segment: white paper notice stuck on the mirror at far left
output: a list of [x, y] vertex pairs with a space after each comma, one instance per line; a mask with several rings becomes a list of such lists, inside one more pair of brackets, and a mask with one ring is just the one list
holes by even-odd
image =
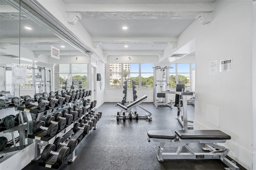
[[27, 83], [27, 66], [12, 64], [13, 83]]

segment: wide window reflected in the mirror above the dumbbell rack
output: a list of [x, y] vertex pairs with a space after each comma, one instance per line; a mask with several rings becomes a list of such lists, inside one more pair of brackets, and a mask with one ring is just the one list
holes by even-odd
[[[55, 66], [55, 89], [62, 89], [65, 87], [65, 83], [68, 85], [68, 77], [72, 75], [72, 81], [74, 82], [75, 89], [78, 89], [79, 85], [82, 85], [83, 89], [88, 88], [88, 64], [57, 64]], [[78, 84], [81, 81], [82, 84]]]

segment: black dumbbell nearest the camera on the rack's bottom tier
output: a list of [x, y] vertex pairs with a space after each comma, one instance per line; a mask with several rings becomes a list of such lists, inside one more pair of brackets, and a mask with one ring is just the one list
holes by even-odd
[[63, 146], [60, 149], [60, 152], [54, 152], [54, 150], [56, 150], [56, 146], [54, 144], [46, 145], [46, 147], [44, 148], [44, 150], [41, 154], [41, 159], [43, 161], [47, 161], [52, 155], [58, 155], [57, 163], [63, 164], [67, 160], [67, 158], [70, 154], [70, 148]]

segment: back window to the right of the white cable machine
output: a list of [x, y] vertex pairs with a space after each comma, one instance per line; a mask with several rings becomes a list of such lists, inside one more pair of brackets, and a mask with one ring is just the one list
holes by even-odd
[[[185, 84], [186, 88], [190, 87], [190, 77], [194, 63], [176, 63], [171, 64], [170, 72], [170, 88], [176, 88], [176, 84]], [[177, 82], [177, 83], [176, 83]]]

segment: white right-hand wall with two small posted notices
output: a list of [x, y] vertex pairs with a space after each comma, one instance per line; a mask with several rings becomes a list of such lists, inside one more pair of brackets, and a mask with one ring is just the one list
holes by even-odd
[[[196, 20], [179, 36], [178, 44], [193, 39], [194, 128], [220, 129], [229, 134], [231, 140], [225, 144], [230, 149], [228, 155], [252, 169], [252, 1], [216, 1], [212, 22], [206, 26]], [[166, 49], [165, 55], [168, 52]], [[219, 71], [222, 59], [232, 59], [231, 71]], [[218, 60], [218, 71], [209, 75], [209, 62], [213, 60]], [[215, 115], [210, 115], [211, 109]]]

